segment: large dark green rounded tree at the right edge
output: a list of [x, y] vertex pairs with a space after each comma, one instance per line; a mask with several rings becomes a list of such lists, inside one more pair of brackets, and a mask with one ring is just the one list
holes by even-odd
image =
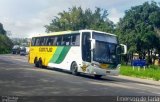
[[145, 58], [153, 50], [160, 51], [160, 7], [152, 1], [143, 5], [132, 7], [125, 12], [117, 25], [120, 42], [125, 43], [129, 53], [139, 53], [140, 58]]

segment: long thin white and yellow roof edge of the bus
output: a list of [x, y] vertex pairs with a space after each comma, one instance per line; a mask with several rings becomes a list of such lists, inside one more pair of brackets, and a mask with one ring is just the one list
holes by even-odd
[[102, 31], [96, 31], [96, 30], [77, 30], [77, 31], [60, 31], [60, 32], [45, 33], [45, 34], [36, 35], [36, 36], [33, 36], [33, 37], [43, 37], [43, 36], [53, 36], [53, 35], [67, 35], [67, 34], [79, 33], [79, 32], [97, 32], [97, 33], [104, 33], [104, 34], [111, 35], [111, 36], [116, 36], [115, 34], [106, 33], [106, 32], [102, 32]]

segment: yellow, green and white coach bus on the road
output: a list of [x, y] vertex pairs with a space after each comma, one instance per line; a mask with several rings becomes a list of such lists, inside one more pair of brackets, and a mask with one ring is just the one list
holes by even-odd
[[127, 47], [119, 44], [117, 36], [95, 30], [53, 32], [31, 39], [29, 63], [85, 73], [100, 78], [118, 75], [120, 56]]

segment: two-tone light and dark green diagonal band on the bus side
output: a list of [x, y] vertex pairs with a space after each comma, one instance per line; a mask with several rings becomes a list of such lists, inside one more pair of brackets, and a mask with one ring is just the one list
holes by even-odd
[[50, 62], [60, 64], [66, 57], [67, 53], [69, 52], [71, 46], [65, 47], [57, 47], [55, 54], [52, 56]]

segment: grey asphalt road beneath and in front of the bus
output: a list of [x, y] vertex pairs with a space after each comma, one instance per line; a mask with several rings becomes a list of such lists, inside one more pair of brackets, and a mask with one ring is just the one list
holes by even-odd
[[74, 76], [35, 68], [27, 57], [0, 55], [0, 96], [159, 96], [160, 83], [121, 76]]

